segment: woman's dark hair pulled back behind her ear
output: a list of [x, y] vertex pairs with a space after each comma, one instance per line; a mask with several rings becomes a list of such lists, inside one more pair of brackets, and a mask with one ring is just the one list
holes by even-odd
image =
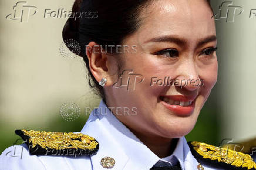
[[[90, 72], [85, 46], [92, 41], [102, 46], [122, 45], [123, 39], [139, 28], [142, 22], [140, 12], [151, 2], [153, 0], [76, 0], [73, 5], [72, 12], [74, 16], [79, 14], [80, 19], [68, 19], [63, 28], [63, 40], [65, 42], [73, 39], [79, 43], [81, 52], [76, 55], [83, 57], [85, 61], [89, 86], [103, 99], [103, 88]], [[210, 0], [207, 2], [210, 5]], [[70, 49], [70, 46], [68, 47]], [[121, 66], [122, 62], [119, 60], [118, 75]]]

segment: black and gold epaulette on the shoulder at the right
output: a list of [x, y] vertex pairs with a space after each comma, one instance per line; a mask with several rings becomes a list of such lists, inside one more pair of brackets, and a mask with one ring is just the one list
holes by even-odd
[[194, 151], [196, 151], [196, 154], [200, 155], [204, 159], [210, 159], [212, 161], [217, 161], [218, 163], [223, 162], [225, 164], [232, 165], [234, 169], [237, 169], [238, 167], [244, 169], [256, 169], [256, 163], [248, 154], [233, 151], [228, 148], [215, 147], [213, 145], [197, 141], [188, 142], [188, 145], [190, 145], [191, 152], [194, 156]]

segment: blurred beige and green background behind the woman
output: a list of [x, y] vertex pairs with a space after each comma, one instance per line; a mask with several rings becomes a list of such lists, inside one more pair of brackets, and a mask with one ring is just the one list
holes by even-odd
[[[0, 152], [19, 139], [15, 129], [80, 131], [88, 117], [85, 107], [97, 107], [100, 101], [87, 85], [82, 59], [60, 55], [66, 18], [43, 18], [45, 9], [70, 11], [73, 1], [27, 2], [38, 10], [29, 22], [6, 19], [16, 1], [0, 2]], [[212, 2], [215, 13], [222, 2]], [[224, 138], [256, 136], [256, 17], [250, 18], [256, 1], [233, 4], [244, 12], [235, 13], [233, 23], [225, 18], [216, 21], [218, 82], [188, 141], [219, 145]], [[59, 111], [69, 101], [81, 110], [80, 117], [71, 122], [63, 120]]]

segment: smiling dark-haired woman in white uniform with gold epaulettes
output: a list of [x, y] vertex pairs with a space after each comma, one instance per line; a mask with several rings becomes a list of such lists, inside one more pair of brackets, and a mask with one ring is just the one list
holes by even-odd
[[[79, 9], [80, 21], [70, 18], [63, 38], [79, 42], [89, 84], [103, 98], [81, 131], [96, 140], [78, 137], [95, 142], [92, 152], [29, 155], [21, 145], [22, 159], [14, 159], [5, 156], [10, 147], [1, 155], [4, 169], [256, 168], [250, 155], [230, 155], [184, 138], [217, 81], [217, 39], [208, 1], [85, 0], [75, 2], [73, 11]], [[16, 133], [29, 136], [29, 131]]]

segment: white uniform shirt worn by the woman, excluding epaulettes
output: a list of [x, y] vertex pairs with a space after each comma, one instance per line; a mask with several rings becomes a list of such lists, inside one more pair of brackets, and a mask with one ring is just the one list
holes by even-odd
[[[136, 116], [136, 115], [131, 115]], [[125, 125], [123, 125], [101, 101], [99, 109], [90, 114], [82, 131], [83, 134], [94, 137], [99, 142], [96, 155], [78, 157], [29, 155], [25, 144], [15, 145], [5, 149], [0, 156], [1, 170], [16, 169], [106, 169], [100, 165], [104, 157], [115, 160], [112, 170], [149, 170], [160, 160], [150, 151]], [[181, 137], [176, 149], [169, 157], [163, 158], [171, 164], [175, 157], [180, 162], [181, 169], [197, 170], [197, 159], [193, 157], [186, 138]], [[175, 160], [175, 159], [174, 159]], [[204, 165], [203, 165], [204, 166]], [[204, 169], [211, 169], [204, 166]]]

